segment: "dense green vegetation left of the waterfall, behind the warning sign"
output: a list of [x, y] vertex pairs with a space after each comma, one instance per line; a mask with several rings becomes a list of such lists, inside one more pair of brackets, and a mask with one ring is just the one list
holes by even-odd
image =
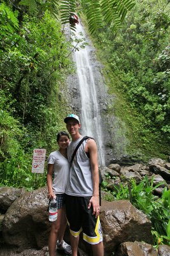
[[0, 186], [44, 186], [31, 173], [33, 148], [55, 149], [66, 129], [64, 80], [72, 70], [69, 46], [50, 12], [32, 17], [0, 5]]

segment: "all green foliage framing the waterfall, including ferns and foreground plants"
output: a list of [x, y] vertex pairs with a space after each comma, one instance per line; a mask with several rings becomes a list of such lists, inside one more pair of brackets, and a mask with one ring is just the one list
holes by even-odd
[[[65, 82], [73, 72], [69, 60], [73, 49], [54, 17], [65, 24], [77, 1], [69, 3], [1, 1], [0, 186], [36, 189], [46, 184], [46, 173], [31, 173], [32, 152], [46, 148], [48, 155], [57, 147], [57, 132], [65, 129]], [[108, 91], [117, 96], [107, 111], [124, 122], [130, 141], [127, 151], [141, 152], [145, 158], [166, 157], [170, 152], [169, 1], [138, 0], [132, 13], [131, 0], [81, 4], [78, 11], [83, 6], [95, 35]], [[129, 185], [131, 197], [129, 186], [120, 185], [106, 199], [131, 200], [152, 221], [155, 245], [170, 245], [169, 191], [165, 188], [161, 198], [155, 197], [153, 181], [147, 177]]]

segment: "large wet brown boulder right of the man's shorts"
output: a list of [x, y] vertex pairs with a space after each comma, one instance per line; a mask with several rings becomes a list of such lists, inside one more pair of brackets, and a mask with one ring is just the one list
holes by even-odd
[[152, 223], [147, 216], [127, 200], [106, 202], [101, 207], [104, 255], [111, 255], [118, 244], [126, 241], [153, 243]]

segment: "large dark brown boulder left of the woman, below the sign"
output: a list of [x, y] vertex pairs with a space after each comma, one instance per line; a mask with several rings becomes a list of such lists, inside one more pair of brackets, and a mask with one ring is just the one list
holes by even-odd
[[47, 244], [48, 221], [47, 188], [24, 193], [11, 204], [3, 219], [3, 239], [9, 246], [42, 248]]

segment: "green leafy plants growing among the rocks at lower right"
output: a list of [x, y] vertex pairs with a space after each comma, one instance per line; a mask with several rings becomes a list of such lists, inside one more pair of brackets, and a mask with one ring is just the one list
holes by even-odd
[[[106, 181], [105, 181], [106, 182]], [[162, 196], [153, 195], [154, 189], [162, 183], [153, 186], [153, 179], [149, 182], [146, 176], [139, 184], [131, 180], [129, 184], [114, 186], [114, 191], [109, 192], [105, 199], [130, 200], [131, 203], [143, 211], [152, 221], [152, 235], [155, 246], [167, 244], [170, 246], [170, 189], [164, 188]], [[103, 189], [106, 189], [107, 182], [103, 182]]]

